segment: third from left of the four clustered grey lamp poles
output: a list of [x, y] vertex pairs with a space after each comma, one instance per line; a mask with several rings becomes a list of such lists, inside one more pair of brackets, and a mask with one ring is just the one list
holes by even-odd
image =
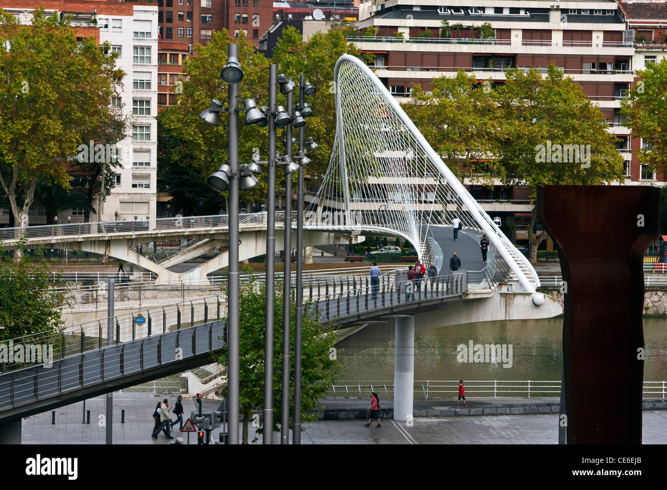
[[[293, 91], [287, 93], [287, 114], [292, 115]], [[285, 135], [287, 155], [291, 157], [291, 123]], [[291, 281], [291, 173], [285, 165], [285, 272], [283, 273], [283, 385], [281, 390], [280, 443], [289, 444], [289, 286]]]

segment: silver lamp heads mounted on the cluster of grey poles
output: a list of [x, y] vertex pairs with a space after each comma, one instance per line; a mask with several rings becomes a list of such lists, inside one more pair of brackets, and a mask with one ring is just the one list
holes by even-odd
[[[243, 79], [243, 70], [241, 69], [241, 65], [239, 65], [238, 59], [233, 56], [228, 57], [227, 64], [220, 72], [220, 77], [226, 83], [239, 83]], [[284, 73], [278, 75], [277, 81], [280, 85], [280, 93], [283, 95], [293, 91], [294, 87], [296, 86], [294, 81], [288, 79]], [[313, 87], [313, 85], [311, 85], [309, 82], [305, 83], [303, 87], [303, 92], [305, 95], [315, 95], [316, 91], [317, 89], [315, 89], [315, 87]], [[219, 100], [212, 99], [211, 105], [209, 105], [208, 109], [205, 109], [205, 111], [199, 113], [199, 118], [205, 123], [213, 126], [219, 126], [220, 113], [225, 110], [225, 107]], [[247, 99], [246, 101], [243, 101], [242, 110], [245, 110], [245, 118], [243, 119], [243, 123], [245, 125], [256, 124], [260, 127], [265, 127], [268, 125], [268, 118], [271, 117], [269, 108], [262, 106], [261, 109], [258, 109], [255, 99]], [[293, 116], [287, 114], [285, 106], [279, 105], [275, 111], [275, 125], [276, 127], [285, 127], [291, 123], [292, 127], [303, 127], [306, 124], [304, 118], [311, 115], [313, 115], [313, 110], [309, 107], [308, 103], [303, 103], [303, 107], [297, 103], [293, 112]], [[296, 142], [297, 139], [293, 137], [291, 141], [292, 145]], [[283, 144], [285, 147], [287, 147], [287, 139], [283, 139]], [[318, 146], [312, 138], [307, 138], [305, 140], [305, 144], [307, 151], [313, 151]], [[295, 157], [297, 159], [301, 159], [301, 161], [303, 161], [303, 165], [307, 165], [311, 161], [308, 157], [305, 156], [304, 151], [299, 151], [295, 154]], [[287, 174], [291, 174], [299, 169], [299, 164], [295, 163], [295, 161], [293, 161], [289, 155], [284, 155], [281, 157], [280, 154], [276, 152], [276, 159], [279, 165], [285, 165], [285, 173]], [[231, 173], [231, 168], [229, 165], [227, 165], [227, 163], [223, 163], [220, 165], [220, 168], [217, 170], [217, 172], [209, 175], [207, 179], [208, 185], [215, 191], [226, 191], [229, 187], [229, 173]], [[259, 155], [255, 154], [253, 155], [252, 161], [250, 163], [247, 165], [241, 165], [239, 167], [239, 189], [247, 190], [255, 187], [259, 181], [253, 174], [259, 173], [261, 173]]]

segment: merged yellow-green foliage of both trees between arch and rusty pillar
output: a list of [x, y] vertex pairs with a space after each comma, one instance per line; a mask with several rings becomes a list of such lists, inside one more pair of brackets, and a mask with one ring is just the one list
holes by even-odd
[[[506, 79], [497, 88], [490, 81], [476, 85], [462, 72], [453, 79], [434, 79], [432, 93], [414, 89], [408, 113], [450, 161], [486, 172], [486, 185], [497, 180], [527, 186], [533, 200], [538, 185], [623, 181], [616, 137], [606, 131], [604, 115], [578, 83], [553, 64], [544, 77], [536, 69], [509, 69]], [[566, 152], [564, 145], [576, 145], [576, 153], [574, 147]], [[532, 261], [545, 233], [528, 234]]]

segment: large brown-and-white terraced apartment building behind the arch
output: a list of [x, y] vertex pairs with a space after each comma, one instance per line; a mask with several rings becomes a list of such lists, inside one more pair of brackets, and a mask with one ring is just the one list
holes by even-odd
[[[500, 84], [510, 67], [546, 71], [554, 63], [582, 86], [600, 107], [608, 131], [618, 137], [625, 183], [667, 183], [666, 175], [640, 168], [633, 151], [641, 142], [632, 139], [620, 114], [621, 101], [635, 79], [633, 70], [644, 64], [636, 56], [634, 27], [628, 26], [615, 1], [367, 0], [359, 5], [359, 18], [359, 29], [374, 27], [376, 34], [350, 40], [362, 53], [374, 55], [376, 74], [399, 101], [409, 100], [414, 85], [428, 91], [434, 77], [454, 77], [459, 69], [479, 81], [491, 78]], [[450, 32], [441, 38], [444, 20]], [[492, 33], [480, 39], [484, 23], [491, 25]], [[507, 188], [500, 182], [487, 189], [471, 179], [464, 184], [492, 217], [500, 217], [502, 223], [506, 217], [514, 219], [517, 239], [527, 239], [532, 210], [528, 189]]]

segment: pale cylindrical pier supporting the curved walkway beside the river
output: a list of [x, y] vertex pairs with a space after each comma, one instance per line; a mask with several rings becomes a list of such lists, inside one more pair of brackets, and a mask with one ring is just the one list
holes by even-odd
[[412, 418], [415, 377], [415, 317], [394, 317], [394, 420]]

